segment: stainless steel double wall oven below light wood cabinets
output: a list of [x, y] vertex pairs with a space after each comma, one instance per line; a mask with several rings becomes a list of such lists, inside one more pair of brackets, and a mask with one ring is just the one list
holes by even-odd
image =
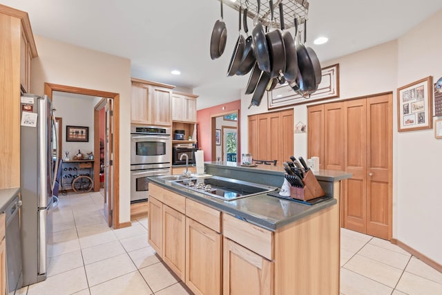
[[131, 202], [148, 196], [148, 177], [171, 174], [170, 127], [131, 126]]

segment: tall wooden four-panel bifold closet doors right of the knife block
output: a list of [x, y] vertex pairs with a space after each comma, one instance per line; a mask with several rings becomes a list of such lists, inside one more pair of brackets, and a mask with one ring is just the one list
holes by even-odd
[[[392, 237], [392, 94], [308, 108], [308, 158], [352, 173], [343, 182], [341, 225]], [[323, 158], [323, 159], [322, 159]]]

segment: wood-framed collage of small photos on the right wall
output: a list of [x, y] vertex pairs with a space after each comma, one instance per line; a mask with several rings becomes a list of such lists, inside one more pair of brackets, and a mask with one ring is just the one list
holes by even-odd
[[432, 129], [432, 77], [398, 88], [398, 132]]

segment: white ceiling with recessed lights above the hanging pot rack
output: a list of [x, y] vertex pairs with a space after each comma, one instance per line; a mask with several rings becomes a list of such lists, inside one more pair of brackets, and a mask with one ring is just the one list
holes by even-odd
[[[282, 3], [285, 1], [289, 0]], [[225, 5], [226, 50], [219, 59], [210, 58], [211, 31], [220, 18], [218, 0], [0, 0], [0, 3], [28, 12], [35, 35], [131, 59], [132, 77], [193, 88], [193, 93], [200, 95], [198, 109], [239, 99], [240, 89], [245, 88], [249, 79], [248, 75], [226, 77], [238, 38], [238, 12]], [[309, 0], [309, 3], [307, 43], [316, 50], [320, 61], [396, 39], [442, 9], [440, 0]], [[251, 27], [249, 19], [250, 30]], [[319, 35], [328, 37], [329, 42], [313, 45], [313, 39]], [[173, 69], [180, 70], [182, 75], [171, 75]]]

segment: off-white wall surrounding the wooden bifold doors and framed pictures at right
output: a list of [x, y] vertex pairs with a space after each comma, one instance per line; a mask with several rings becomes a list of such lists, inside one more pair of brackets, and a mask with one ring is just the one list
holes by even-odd
[[[339, 64], [339, 99], [393, 93], [393, 238], [439, 264], [442, 264], [442, 193], [436, 185], [440, 181], [442, 140], [434, 139], [433, 129], [397, 132], [396, 89], [430, 75], [434, 82], [442, 76], [442, 39], [437, 37], [441, 27], [442, 10], [397, 40], [321, 65]], [[259, 107], [247, 109], [250, 101], [251, 95], [241, 94], [242, 131], [247, 131], [248, 115], [273, 111], [267, 110], [266, 96]], [[307, 123], [308, 105], [292, 106], [294, 124]], [[244, 153], [248, 149], [247, 132], [241, 134]], [[294, 154], [307, 156], [306, 133], [294, 135]]]

